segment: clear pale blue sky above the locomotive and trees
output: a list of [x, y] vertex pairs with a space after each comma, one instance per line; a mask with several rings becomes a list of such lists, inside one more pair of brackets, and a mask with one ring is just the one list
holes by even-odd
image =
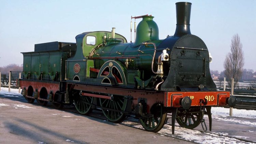
[[[211, 70], [223, 71], [232, 35], [243, 44], [245, 69], [256, 71], [256, 1], [191, 1], [191, 33], [200, 37], [213, 56]], [[22, 64], [20, 52], [32, 52], [34, 44], [75, 42], [86, 31], [111, 31], [130, 41], [130, 17], [152, 14], [159, 38], [173, 35], [176, 0], [85, 1], [85, 0], [0, 0], [0, 67]], [[140, 19], [137, 19], [137, 24]]]

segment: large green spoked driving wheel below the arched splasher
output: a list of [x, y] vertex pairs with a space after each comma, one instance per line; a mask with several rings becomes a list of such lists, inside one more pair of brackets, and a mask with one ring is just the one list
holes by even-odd
[[111, 97], [111, 100], [100, 98], [102, 112], [109, 121], [120, 123], [125, 119], [125, 114], [118, 111], [124, 111], [126, 109], [127, 99], [123, 96]]

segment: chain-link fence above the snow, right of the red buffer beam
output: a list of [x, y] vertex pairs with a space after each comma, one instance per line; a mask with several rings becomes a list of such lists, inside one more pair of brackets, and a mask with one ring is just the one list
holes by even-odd
[[[218, 90], [231, 91], [231, 79], [214, 79]], [[256, 118], [256, 80], [234, 80], [233, 95], [237, 104], [230, 112], [229, 107], [213, 107], [212, 114]]]

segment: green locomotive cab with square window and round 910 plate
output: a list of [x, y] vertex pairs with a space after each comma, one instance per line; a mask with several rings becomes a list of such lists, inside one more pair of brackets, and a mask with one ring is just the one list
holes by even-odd
[[95, 50], [98, 49], [103, 53], [104, 46], [127, 43], [125, 37], [120, 34], [115, 33], [115, 38], [112, 38], [113, 33], [94, 31], [77, 35], [75, 37], [77, 50], [75, 56], [66, 61], [65, 79], [67, 81], [84, 82], [86, 78], [96, 78], [98, 71], [90, 71], [90, 69], [97, 67], [95, 66], [95, 60], [91, 59], [93, 55], [94, 57], [99, 56]]

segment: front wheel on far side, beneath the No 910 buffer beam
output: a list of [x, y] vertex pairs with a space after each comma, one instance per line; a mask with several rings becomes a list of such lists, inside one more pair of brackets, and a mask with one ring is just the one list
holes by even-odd
[[181, 127], [194, 129], [201, 123], [201, 117], [203, 116], [200, 114], [199, 110], [198, 112], [187, 112], [184, 110], [181, 113], [177, 113], [176, 120]]

